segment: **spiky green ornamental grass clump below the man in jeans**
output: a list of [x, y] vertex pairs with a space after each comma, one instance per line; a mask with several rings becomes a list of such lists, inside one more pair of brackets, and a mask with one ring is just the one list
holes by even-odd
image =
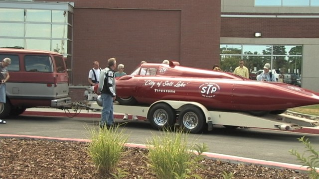
[[124, 129], [119, 130], [119, 126], [90, 130], [92, 141], [87, 153], [100, 175], [105, 176], [115, 172], [125, 150], [124, 144], [128, 140], [128, 135], [124, 132]]

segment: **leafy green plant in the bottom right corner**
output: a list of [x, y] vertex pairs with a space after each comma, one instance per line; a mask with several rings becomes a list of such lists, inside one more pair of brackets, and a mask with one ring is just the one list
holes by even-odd
[[302, 155], [296, 150], [289, 150], [289, 152], [296, 156], [303, 166], [307, 167], [311, 179], [319, 179], [316, 169], [319, 167], [319, 152], [314, 149], [308, 139], [305, 139], [305, 136], [298, 138], [298, 140], [305, 145], [307, 150]]

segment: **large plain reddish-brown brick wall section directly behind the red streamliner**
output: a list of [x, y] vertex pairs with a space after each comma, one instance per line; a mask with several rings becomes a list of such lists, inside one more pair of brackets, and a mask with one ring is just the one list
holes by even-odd
[[142, 60], [209, 69], [219, 62], [220, 0], [73, 2], [73, 85], [87, 85], [92, 62], [105, 68], [111, 57], [127, 73]]

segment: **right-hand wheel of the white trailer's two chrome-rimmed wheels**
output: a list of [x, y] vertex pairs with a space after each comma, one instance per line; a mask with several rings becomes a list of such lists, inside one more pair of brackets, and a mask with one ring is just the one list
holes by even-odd
[[199, 133], [204, 129], [206, 121], [203, 112], [199, 108], [189, 106], [179, 113], [178, 123], [190, 133]]

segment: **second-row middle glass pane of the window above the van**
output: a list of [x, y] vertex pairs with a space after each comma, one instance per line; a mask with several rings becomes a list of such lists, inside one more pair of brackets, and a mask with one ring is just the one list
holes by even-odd
[[26, 24], [25, 37], [51, 37], [50, 24]]

